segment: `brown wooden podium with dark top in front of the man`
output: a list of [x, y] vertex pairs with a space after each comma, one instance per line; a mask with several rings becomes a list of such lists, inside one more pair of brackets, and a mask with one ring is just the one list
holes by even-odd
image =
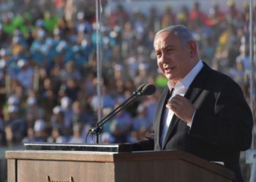
[[184, 151], [129, 150], [118, 144], [28, 145], [22, 151], [6, 151], [8, 182], [226, 182], [235, 178], [225, 167]]

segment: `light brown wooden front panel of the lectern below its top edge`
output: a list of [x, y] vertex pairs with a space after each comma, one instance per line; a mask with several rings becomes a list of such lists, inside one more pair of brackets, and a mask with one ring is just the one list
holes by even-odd
[[17, 178], [25, 181], [114, 181], [113, 163], [18, 160]]

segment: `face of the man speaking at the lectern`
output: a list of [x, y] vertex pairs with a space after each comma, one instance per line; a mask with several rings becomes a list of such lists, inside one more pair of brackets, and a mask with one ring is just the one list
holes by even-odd
[[189, 43], [182, 44], [173, 33], [163, 32], [155, 36], [154, 50], [157, 65], [168, 80], [178, 82], [191, 70], [193, 49]]

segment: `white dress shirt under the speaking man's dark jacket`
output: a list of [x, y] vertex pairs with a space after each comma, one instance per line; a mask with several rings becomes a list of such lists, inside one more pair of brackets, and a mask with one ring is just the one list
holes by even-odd
[[[195, 76], [197, 76], [197, 74], [202, 68], [203, 68], [203, 62], [199, 60], [198, 63], [194, 66], [194, 68], [192, 68], [192, 70], [189, 71], [189, 74], [187, 74], [183, 79], [181, 79], [181, 81], [177, 82], [176, 84], [174, 82], [169, 81], [167, 83], [167, 86], [169, 87], [170, 91], [173, 89], [173, 94], [170, 96], [169, 100], [173, 98], [175, 95], [184, 96], [190, 84], [195, 79]], [[194, 118], [194, 115], [192, 116], [192, 118]], [[168, 108], [165, 108], [164, 116], [162, 117], [162, 122], [164, 122], [164, 125], [162, 127], [162, 135], [160, 138], [161, 145], [165, 140], [165, 135], [167, 133], [168, 127], [170, 126], [170, 122], [172, 119], [173, 119], [173, 111], [171, 111]], [[191, 127], [192, 122], [187, 125]]]

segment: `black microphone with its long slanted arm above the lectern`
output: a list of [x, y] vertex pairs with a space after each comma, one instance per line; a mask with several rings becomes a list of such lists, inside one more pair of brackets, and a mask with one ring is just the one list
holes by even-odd
[[102, 132], [102, 125], [105, 124], [105, 122], [108, 122], [113, 116], [116, 116], [119, 111], [124, 109], [126, 106], [128, 106], [130, 103], [132, 103], [133, 100], [136, 98], [143, 96], [143, 95], [153, 95], [156, 91], [156, 87], [153, 84], [141, 84], [138, 89], [135, 92], [132, 92], [132, 96], [129, 97], [127, 100], [124, 101], [124, 103], [121, 103], [120, 106], [115, 108], [113, 111], [110, 112], [107, 116], [105, 116], [103, 119], [101, 119], [94, 128], [91, 128], [89, 132], [91, 134], [96, 133], [97, 135], [97, 143], [99, 141], [99, 134]]

